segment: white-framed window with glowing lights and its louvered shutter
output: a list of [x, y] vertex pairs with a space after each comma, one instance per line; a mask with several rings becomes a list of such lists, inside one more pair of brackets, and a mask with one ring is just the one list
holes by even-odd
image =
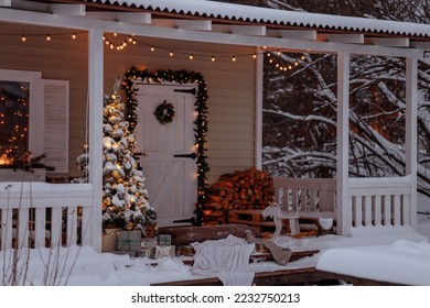
[[45, 154], [54, 173], [68, 173], [68, 80], [0, 69], [0, 167]]

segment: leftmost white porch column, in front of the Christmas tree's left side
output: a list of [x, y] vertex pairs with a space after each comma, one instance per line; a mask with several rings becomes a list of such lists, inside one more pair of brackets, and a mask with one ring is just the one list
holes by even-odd
[[88, 32], [88, 98], [89, 98], [89, 183], [93, 184], [92, 245], [101, 251], [103, 190], [103, 31]]

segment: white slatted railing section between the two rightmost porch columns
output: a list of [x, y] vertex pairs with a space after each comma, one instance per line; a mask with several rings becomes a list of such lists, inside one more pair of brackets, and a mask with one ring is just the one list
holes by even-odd
[[350, 178], [351, 227], [410, 224], [409, 177]]

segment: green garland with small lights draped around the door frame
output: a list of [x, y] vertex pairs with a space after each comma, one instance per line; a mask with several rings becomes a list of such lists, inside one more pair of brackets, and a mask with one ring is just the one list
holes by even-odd
[[139, 70], [132, 67], [125, 74], [125, 81], [122, 82], [122, 89], [127, 97], [127, 121], [129, 122], [129, 131], [133, 133], [137, 124], [137, 108], [138, 100], [136, 92], [138, 89], [135, 87], [136, 81], [148, 82], [178, 82], [178, 84], [194, 84], [197, 82], [198, 88], [195, 95], [196, 101], [194, 103], [197, 117], [194, 121], [194, 136], [195, 144], [197, 145], [196, 164], [197, 164], [197, 202], [196, 202], [196, 224], [202, 224], [203, 205], [206, 201], [206, 194], [208, 189], [207, 173], [209, 166], [206, 162], [205, 155], [206, 148], [206, 133], [207, 133], [207, 88], [206, 81], [200, 73], [187, 70], [154, 70], [148, 69]]

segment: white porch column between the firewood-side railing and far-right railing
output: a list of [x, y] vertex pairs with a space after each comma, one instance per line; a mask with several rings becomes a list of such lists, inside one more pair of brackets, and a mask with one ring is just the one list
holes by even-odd
[[336, 223], [337, 234], [347, 235], [352, 221], [348, 205], [348, 139], [350, 139], [350, 53], [337, 54], [337, 161]]

